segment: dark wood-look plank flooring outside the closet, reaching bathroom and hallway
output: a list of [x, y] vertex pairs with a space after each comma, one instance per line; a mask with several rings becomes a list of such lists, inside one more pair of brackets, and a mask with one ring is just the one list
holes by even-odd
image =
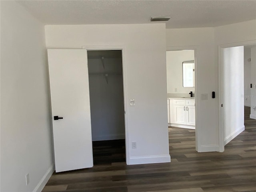
[[194, 130], [169, 127], [171, 163], [126, 165], [108, 158], [93, 168], [54, 173], [43, 192], [256, 192], [256, 120], [249, 110], [245, 131], [223, 153], [198, 153]]

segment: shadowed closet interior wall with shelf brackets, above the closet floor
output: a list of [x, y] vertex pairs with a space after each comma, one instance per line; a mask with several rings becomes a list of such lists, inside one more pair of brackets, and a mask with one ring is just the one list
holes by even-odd
[[[101, 59], [104, 53], [98, 53], [98, 58], [91, 58], [88, 52], [93, 141], [125, 138], [122, 52], [116, 52], [119, 55], [104, 57], [105, 67]], [[107, 81], [101, 74], [108, 74]]]

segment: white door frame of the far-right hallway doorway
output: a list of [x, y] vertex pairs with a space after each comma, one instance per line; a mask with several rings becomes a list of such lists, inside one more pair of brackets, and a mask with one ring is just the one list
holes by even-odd
[[237, 46], [247, 46], [256, 44], [256, 40], [234, 42], [227, 44], [218, 45], [218, 124], [219, 124], [219, 152], [224, 152], [224, 127], [223, 127], [223, 112], [222, 112], [222, 101], [223, 101], [223, 50], [224, 48], [237, 47]]

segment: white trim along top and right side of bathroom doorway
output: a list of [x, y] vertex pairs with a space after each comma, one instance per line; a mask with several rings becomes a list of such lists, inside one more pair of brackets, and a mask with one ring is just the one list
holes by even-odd
[[195, 139], [196, 139], [196, 151], [198, 151], [198, 149], [200, 148], [201, 146], [201, 135], [200, 135], [200, 126], [197, 126], [198, 125], [198, 120], [197, 120], [197, 117], [198, 117], [198, 111], [197, 109], [199, 108], [199, 100], [198, 100], [198, 94], [197, 94], [197, 91], [196, 91], [196, 87], [197, 87], [197, 80], [196, 80], [196, 68], [197, 68], [197, 62], [196, 62], [196, 55], [197, 55], [197, 52], [198, 52], [198, 48], [199, 46], [168, 46], [166, 47], [166, 51], [182, 51], [182, 50], [194, 50], [194, 60], [195, 60]]

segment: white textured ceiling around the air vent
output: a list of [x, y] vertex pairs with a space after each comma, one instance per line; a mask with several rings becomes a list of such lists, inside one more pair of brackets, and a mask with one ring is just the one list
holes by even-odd
[[166, 28], [215, 27], [256, 19], [256, 0], [18, 0], [44, 24], [142, 24], [172, 16]]

